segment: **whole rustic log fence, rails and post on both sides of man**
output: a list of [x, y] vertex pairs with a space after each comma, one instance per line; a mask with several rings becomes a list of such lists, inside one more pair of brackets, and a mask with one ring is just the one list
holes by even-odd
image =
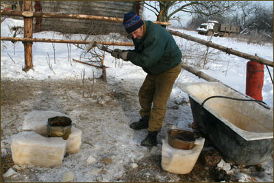
[[[92, 15], [85, 15], [85, 14], [55, 14], [55, 13], [44, 13], [44, 12], [33, 12], [32, 10], [32, 1], [24, 1], [24, 12], [19, 11], [9, 11], [9, 10], [1, 10], [1, 16], [7, 15], [7, 16], [23, 16], [24, 18], [24, 38], [8, 38], [8, 37], [1, 37], [1, 40], [4, 41], [22, 41], [24, 43], [25, 47], [25, 68], [23, 70], [27, 72], [29, 69], [33, 67], [32, 64], [32, 44], [33, 42], [55, 42], [55, 43], [66, 43], [66, 44], [89, 44], [88, 41], [79, 41], [79, 40], [54, 40], [54, 39], [38, 39], [38, 38], [32, 38], [32, 25], [33, 25], [33, 17], [47, 17], [47, 18], [75, 18], [75, 19], [87, 19], [87, 20], [101, 20], [101, 21], [109, 21], [109, 22], [116, 22], [116, 23], [123, 23], [123, 18], [114, 18], [114, 17], [107, 17], [107, 16], [92, 16]], [[165, 23], [165, 22], [153, 22], [157, 23], [159, 25], [171, 25], [171, 23]], [[191, 40], [193, 42], [198, 42], [199, 44], [203, 44], [212, 48], [219, 49], [220, 51], [224, 51], [225, 53], [236, 55], [238, 57], [242, 57], [245, 59], [249, 59], [252, 61], [257, 61], [260, 64], [265, 64], [266, 66], [273, 67], [273, 61], [269, 61], [266, 59], [262, 59], [261, 57], [249, 55], [247, 53], [242, 53], [240, 51], [235, 51], [232, 48], [227, 48], [225, 46], [221, 46], [218, 44], [214, 44], [212, 42], [208, 42], [205, 40], [201, 40], [199, 38], [194, 38], [192, 36], [188, 36], [184, 33], [179, 33], [177, 31], [168, 30], [169, 33], [171, 33], [174, 36], [179, 36], [181, 38], [184, 38], [186, 40]], [[129, 42], [98, 42], [100, 44], [104, 45], [119, 45], [119, 46], [134, 46], [133, 43]], [[102, 67], [103, 66], [102, 63]], [[195, 74], [202, 79], [205, 79], [206, 81], [218, 81], [211, 76], [208, 76], [207, 74], [204, 74], [203, 72], [200, 72], [199, 70], [196, 70], [195, 68], [192, 68], [190, 66], [183, 65], [182, 68], [188, 70], [188, 72], [192, 72], [192, 74]], [[103, 69], [104, 72], [104, 69]], [[105, 76], [105, 73], [103, 73], [103, 76]], [[104, 81], [106, 81], [106, 78], [104, 78]]]

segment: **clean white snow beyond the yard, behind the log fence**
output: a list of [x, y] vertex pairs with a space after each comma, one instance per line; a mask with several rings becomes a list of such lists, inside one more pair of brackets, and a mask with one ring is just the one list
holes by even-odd
[[[23, 27], [22, 20], [14, 20], [7, 18], [3, 23], [1, 23], [1, 36], [2, 37], [11, 37], [14, 35], [14, 31], [11, 31], [11, 27]], [[175, 31], [182, 31], [190, 36], [195, 36], [200, 39], [209, 40], [208, 36], [202, 36], [197, 34], [196, 31], [186, 31], [175, 29]], [[46, 31], [42, 33], [34, 33], [33, 38], [54, 38], [54, 39], [66, 39], [67, 35], [60, 33], [55, 33], [52, 31]], [[85, 36], [75, 34], [69, 35], [71, 40], [82, 40]], [[104, 36], [104, 40], [111, 40], [113, 35]], [[16, 38], [23, 38], [23, 34], [18, 34]], [[90, 38], [91, 39], [91, 38]], [[188, 40], [175, 37], [177, 44], [182, 48], [183, 55], [188, 54], [189, 50], [184, 50], [188, 47], [192, 47], [190, 51], [199, 51], [199, 53], [204, 53], [206, 46], [195, 44]], [[222, 46], [227, 46], [228, 48], [233, 48], [236, 51], [242, 51], [243, 53], [248, 53], [251, 55], [258, 55], [264, 59], [273, 61], [273, 44], [247, 44], [247, 42], [238, 42], [236, 38], [215, 38], [213, 37], [212, 42], [220, 44]], [[109, 48], [114, 48], [110, 46]], [[115, 46], [115, 48], [127, 49], [125, 46]], [[128, 47], [131, 48], [131, 47]], [[227, 55], [221, 53], [221, 51], [216, 51], [213, 48], [210, 48], [209, 53], [212, 52], [211, 60], [206, 65], [206, 70], [201, 70], [206, 74], [219, 79], [223, 83], [231, 86], [232, 88], [245, 94], [245, 76], [246, 76], [246, 59], [242, 59], [235, 55]], [[79, 59], [82, 51], [77, 49], [76, 46], [71, 46], [71, 58]], [[215, 53], [215, 54], [213, 54]], [[195, 54], [195, 53], [192, 53]], [[9, 56], [10, 55], [10, 56]], [[24, 67], [24, 49], [21, 42], [16, 42], [12, 44], [11, 42], [1, 42], [1, 78], [9, 79], [81, 79], [81, 73], [83, 69], [87, 73], [92, 73], [92, 70], [95, 70], [95, 74], [101, 74], [101, 70], [95, 69], [92, 67], [87, 67], [82, 64], [77, 64], [73, 61], [69, 61], [68, 48], [66, 44], [55, 44], [55, 55], [56, 63], [53, 59], [53, 46], [51, 43], [40, 43], [36, 42], [33, 44], [33, 63], [34, 69], [29, 70], [29, 72], [22, 72]], [[184, 55], [187, 56], [187, 55]], [[183, 56], [183, 57], [184, 57]], [[52, 65], [53, 71], [49, 70], [48, 57], [50, 58], [50, 64]], [[15, 62], [12, 61], [12, 59]], [[82, 58], [82, 60], [84, 60]], [[73, 62], [71, 64], [71, 62]], [[114, 58], [110, 54], [105, 55], [105, 66], [108, 66], [108, 76], [114, 77], [117, 80], [125, 78], [143, 78], [145, 73], [142, 72], [142, 69], [133, 66], [129, 62], [119, 62], [114, 64]], [[193, 61], [187, 59], [187, 63], [192, 65]], [[120, 67], [119, 67], [120, 64]], [[123, 67], [122, 67], [123, 65]], [[272, 77], [273, 77], [273, 68], [269, 67]], [[119, 72], [116, 72], [119, 70]], [[129, 74], [131, 73], [131, 74]], [[134, 73], [134, 74], [132, 74]], [[95, 76], [96, 76], [95, 75]], [[199, 80], [197, 76], [193, 74], [186, 73], [184, 71], [180, 76], [180, 81], [203, 81]], [[271, 78], [269, 76], [268, 70], [264, 67], [264, 87], [262, 91], [263, 101], [273, 107], [273, 85], [271, 83]]]

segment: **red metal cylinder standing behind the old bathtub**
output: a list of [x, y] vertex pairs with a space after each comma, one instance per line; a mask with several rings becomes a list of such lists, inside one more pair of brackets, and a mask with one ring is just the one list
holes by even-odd
[[264, 65], [256, 61], [247, 62], [247, 81], [245, 94], [256, 100], [262, 100], [264, 85]]

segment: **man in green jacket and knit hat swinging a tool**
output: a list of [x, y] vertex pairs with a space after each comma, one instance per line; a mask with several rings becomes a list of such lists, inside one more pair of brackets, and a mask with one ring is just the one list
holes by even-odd
[[157, 144], [157, 134], [162, 128], [166, 102], [175, 79], [181, 72], [182, 53], [166, 29], [151, 21], [143, 21], [135, 12], [125, 14], [123, 25], [127, 33], [132, 35], [135, 49], [115, 49], [112, 56], [131, 61], [147, 72], [138, 94], [142, 118], [139, 122], [130, 124], [130, 128], [147, 128], [148, 135], [141, 145], [153, 146]]

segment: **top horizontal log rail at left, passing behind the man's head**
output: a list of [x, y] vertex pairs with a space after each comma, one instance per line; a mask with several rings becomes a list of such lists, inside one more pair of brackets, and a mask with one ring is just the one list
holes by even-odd
[[[1, 16], [24, 16], [27, 12], [1, 10]], [[31, 12], [29, 16], [42, 17], [42, 18], [71, 18], [71, 19], [84, 19], [84, 20], [101, 20], [114, 23], [123, 23], [123, 18], [108, 17], [108, 16], [94, 16], [88, 14], [64, 14], [64, 13], [44, 13], [44, 12]], [[171, 23], [153, 21], [158, 25], [171, 25]]]

